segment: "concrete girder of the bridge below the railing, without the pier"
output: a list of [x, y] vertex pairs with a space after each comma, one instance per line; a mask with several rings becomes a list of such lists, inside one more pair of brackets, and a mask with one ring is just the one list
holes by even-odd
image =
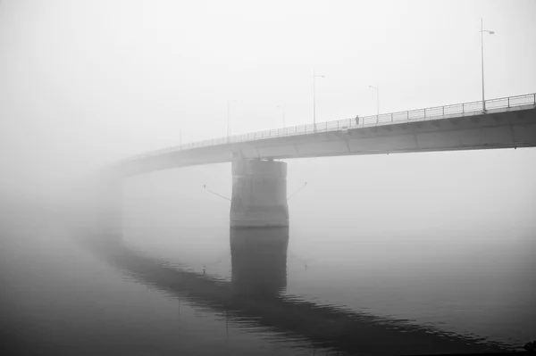
[[536, 146], [536, 106], [440, 120], [383, 123], [306, 135], [172, 151], [125, 161], [122, 177], [241, 159], [292, 159]]

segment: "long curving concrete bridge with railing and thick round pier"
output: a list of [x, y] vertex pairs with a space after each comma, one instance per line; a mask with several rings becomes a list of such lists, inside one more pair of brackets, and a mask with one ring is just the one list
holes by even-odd
[[[528, 94], [486, 100], [485, 106], [482, 101], [457, 103], [222, 137], [131, 157], [108, 172], [117, 181], [155, 170], [232, 162], [230, 227], [285, 227], [287, 164], [274, 160], [534, 146], [536, 94]], [[115, 216], [121, 201], [117, 186], [108, 185], [102, 193]]]

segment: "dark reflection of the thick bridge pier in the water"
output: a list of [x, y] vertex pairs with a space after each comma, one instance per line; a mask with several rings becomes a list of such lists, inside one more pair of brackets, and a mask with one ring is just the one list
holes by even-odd
[[287, 286], [289, 228], [231, 228], [232, 286], [236, 294], [278, 294]]

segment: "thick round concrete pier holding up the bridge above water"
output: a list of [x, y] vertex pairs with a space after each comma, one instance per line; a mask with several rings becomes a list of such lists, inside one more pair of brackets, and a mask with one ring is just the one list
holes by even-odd
[[287, 163], [233, 161], [230, 228], [288, 226]]

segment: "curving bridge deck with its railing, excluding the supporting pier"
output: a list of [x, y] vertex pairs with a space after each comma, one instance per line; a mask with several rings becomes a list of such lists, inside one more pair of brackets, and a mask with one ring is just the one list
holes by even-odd
[[536, 146], [536, 94], [280, 128], [182, 145], [117, 162], [121, 177], [241, 159], [291, 159]]

